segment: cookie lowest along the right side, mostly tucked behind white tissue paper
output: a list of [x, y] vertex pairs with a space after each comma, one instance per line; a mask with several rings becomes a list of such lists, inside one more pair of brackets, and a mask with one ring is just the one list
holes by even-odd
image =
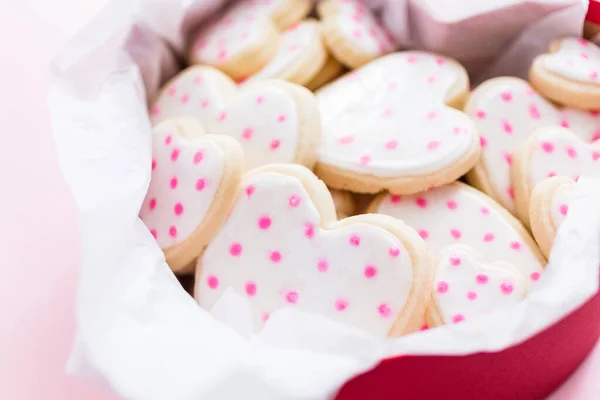
[[558, 228], [569, 212], [575, 184], [570, 178], [555, 176], [536, 185], [531, 193], [531, 232], [546, 257], [550, 254]]

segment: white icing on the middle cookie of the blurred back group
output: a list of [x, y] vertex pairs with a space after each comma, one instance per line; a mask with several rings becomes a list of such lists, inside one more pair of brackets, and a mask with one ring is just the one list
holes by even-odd
[[246, 79], [244, 83], [277, 78], [282, 72], [296, 66], [299, 60], [306, 58], [307, 52], [320, 40], [321, 34], [317, 22], [300, 22], [289, 27], [281, 34], [281, 44], [275, 57], [263, 69]]

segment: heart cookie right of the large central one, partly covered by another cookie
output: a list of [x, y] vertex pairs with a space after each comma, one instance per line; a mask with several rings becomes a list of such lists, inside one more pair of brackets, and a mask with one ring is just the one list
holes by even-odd
[[494, 78], [478, 86], [465, 106], [481, 136], [481, 159], [467, 174], [468, 182], [515, 213], [510, 180], [513, 152], [537, 129], [570, 127], [586, 142], [600, 138], [600, 114], [556, 108], [527, 82]]

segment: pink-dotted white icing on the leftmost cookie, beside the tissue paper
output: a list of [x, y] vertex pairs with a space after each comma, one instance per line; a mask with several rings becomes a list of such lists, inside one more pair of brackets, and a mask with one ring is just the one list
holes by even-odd
[[152, 133], [152, 178], [140, 218], [158, 245], [185, 240], [202, 221], [223, 177], [225, 157], [214, 142], [183, 138], [165, 122]]

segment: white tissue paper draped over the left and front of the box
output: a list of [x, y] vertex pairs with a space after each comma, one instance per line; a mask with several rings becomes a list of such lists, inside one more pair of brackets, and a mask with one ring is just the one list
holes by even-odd
[[183, 49], [192, 20], [221, 3], [113, 1], [55, 60], [52, 129], [81, 233], [71, 372], [128, 399], [326, 399], [383, 357], [522, 342], [596, 293], [600, 181], [582, 177], [543, 279], [514, 308], [394, 340], [296, 309], [253, 335], [246, 300], [231, 292], [201, 309], [138, 211], [150, 180], [146, 96], [175, 65], [162, 40]]

